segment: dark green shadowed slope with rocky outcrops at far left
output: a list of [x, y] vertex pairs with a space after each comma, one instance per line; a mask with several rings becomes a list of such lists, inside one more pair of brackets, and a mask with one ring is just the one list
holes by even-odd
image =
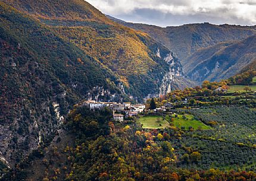
[[121, 91], [111, 72], [49, 28], [2, 2], [0, 11], [0, 157], [12, 165], [88, 93], [118, 100]]

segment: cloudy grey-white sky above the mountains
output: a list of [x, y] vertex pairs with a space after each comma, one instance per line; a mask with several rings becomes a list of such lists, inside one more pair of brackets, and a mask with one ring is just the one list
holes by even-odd
[[105, 14], [161, 27], [189, 23], [256, 24], [256, 0], [86, 0]]

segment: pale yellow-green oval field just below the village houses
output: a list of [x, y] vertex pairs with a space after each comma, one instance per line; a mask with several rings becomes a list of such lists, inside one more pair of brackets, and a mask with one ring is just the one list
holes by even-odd
[[[158, 122], [157, 120], [160, 120]], [[157, 128], [170, 128], [170, 124], [167, 120], [163, 120], [162, 116], [143, 116], [138, 120], [143, 126], [143, 128], [157, 129]], [[161, 124], [161, 126], [160, 126]]]

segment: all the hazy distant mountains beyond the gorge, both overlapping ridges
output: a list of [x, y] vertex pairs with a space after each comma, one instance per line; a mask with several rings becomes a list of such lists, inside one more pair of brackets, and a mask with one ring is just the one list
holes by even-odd
[[238, 74], [255, 58], [256, 26], [204, 23], [162, 28], [110, 18], [148, 33], [163, 43], [180, 59], [185, 74], [198, 84], [204, 80], [218, 81]]

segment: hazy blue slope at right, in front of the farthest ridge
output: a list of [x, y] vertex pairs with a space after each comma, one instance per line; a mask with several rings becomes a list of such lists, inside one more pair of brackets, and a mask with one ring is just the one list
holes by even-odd
[[[204, 56], [202, 61], [201, 56]], [[193, 81], [220, 81], [241, 72], [256, 59], [256, 35], [244, 40], [220, 43], [191, 55], [188, 76]]]

